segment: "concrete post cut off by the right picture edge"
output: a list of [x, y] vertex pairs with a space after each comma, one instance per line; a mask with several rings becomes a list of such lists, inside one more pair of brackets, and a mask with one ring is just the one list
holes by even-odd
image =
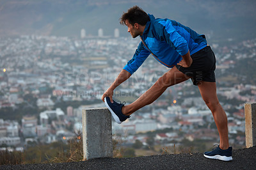
[[246, 148], [256, 146], [256, 103], [244, 104]]

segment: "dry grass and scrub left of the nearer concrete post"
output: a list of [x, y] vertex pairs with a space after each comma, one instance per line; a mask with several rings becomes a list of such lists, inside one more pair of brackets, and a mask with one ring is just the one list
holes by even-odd
[[[65, 145], [65, 148], [63, 146]], [[49, 148], [49, 146], [55, 146]], [[3, 164], [39, 164], [39, 163], [59, 163], [78, 162], [83, 160], [83, 140], [81, 133], [68, 141], [68, 144], [38, 145], [24, 151], [0, 151], [0, 165]], [[67, 147], [68, 146], [68, 147]], [[58, 149], [59, 148], [59, 149]], [[68, 148], [68, 149], [67, 149]]]

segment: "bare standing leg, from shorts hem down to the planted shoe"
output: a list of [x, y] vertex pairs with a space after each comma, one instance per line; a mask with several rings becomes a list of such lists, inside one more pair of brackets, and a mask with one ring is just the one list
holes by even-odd
[[205, 104], [212, 112], [212, 116], [218, 128], [220, 135], [220, 148], [226, 150], [229, 147], [228, 144], [228, 121], [227, 115], [220, 105], [216, 94], [216, 82], [200, 82], [198, 85], [202, 98]]

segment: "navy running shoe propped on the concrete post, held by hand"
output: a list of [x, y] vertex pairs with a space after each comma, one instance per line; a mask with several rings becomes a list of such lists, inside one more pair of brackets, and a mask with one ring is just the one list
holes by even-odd
[[106, 106], [111, 112], [116, 123], [121, 124], [123, 121], [127, 120], [127, 118], [131, 117], [131, 116], [126, 116], [122, 113], [122, 107], [124, 107], [124, 104], [118, 104], [114, 100], [113, 100], [113, 103], [111, 103], [109, 97], [105, 97], [104, 100], [105, 100]]

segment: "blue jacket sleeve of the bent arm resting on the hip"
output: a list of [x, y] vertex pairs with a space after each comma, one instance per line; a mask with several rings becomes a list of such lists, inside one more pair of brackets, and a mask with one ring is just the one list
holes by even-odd
[[187, 54], [189, 50], [188, 42], [182, 35], [180, 35], [179, 31], [173, 27], [172, 22], [167, 20], [166, 22], [159, 24], [163, 26], [161, 27], [162, 31], [157, 31], [159, 38], [165, 40], [166, 43], [179, 52], [180, 56]]

